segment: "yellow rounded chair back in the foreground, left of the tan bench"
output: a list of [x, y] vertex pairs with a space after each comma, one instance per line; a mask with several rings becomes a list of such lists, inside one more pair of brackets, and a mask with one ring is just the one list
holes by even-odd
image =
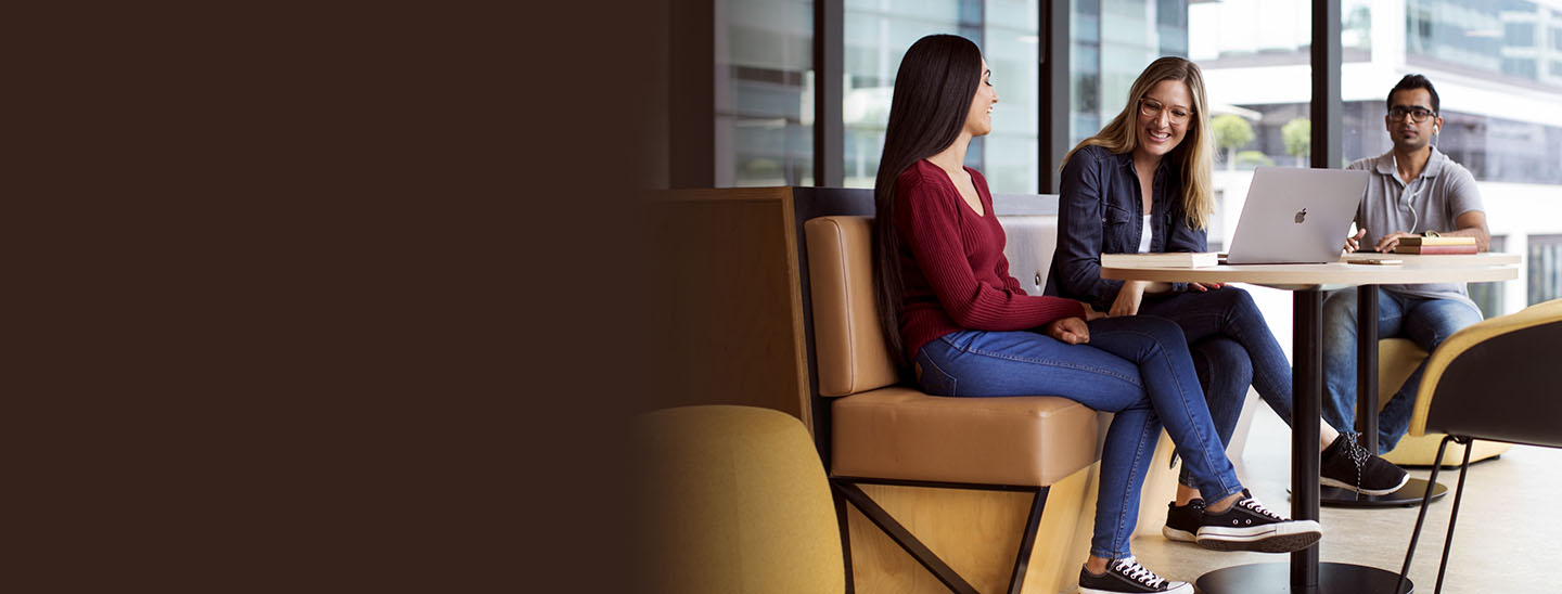
[[640, 416], [634, 440], [647, 592], [847, 591], [834, 499], [801, 421], [756, 407], [667, 408]]

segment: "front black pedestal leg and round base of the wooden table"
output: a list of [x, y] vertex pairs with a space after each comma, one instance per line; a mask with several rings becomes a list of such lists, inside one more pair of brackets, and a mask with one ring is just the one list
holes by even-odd
[[[1375, 318], [1376, 320], [1376, 318]], [[1292, 293], [1292, 430], [1290, 516], [1318, 519], [1318, 430], [1323, 415], [1323, 293], [1301, 288]], [[1329, 538], [1350, 535], [1325, 535]], [[1287, 578], [1289, 577], [1289, 578]], [[1400, 574], [1346, 563], [1318, 563], [1318, 547], [1290, 553], [1286, 564], [1259, 563], [1215, 569], [1195, 586], [1204, 594], [1262, 592], [1393, 592]], [[1406, 589], [1414, 585], [1406, 580]]]

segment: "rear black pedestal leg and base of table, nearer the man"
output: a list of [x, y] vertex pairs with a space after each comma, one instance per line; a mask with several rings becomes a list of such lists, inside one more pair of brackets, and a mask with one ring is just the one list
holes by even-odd
[[[1321, 369], [1321, 368], [1320, 368]], [[1378, 452], [1378, 285], [1356, 287], [1356, 430], [1362, 447]], [[1410, 507], [1420, 505], [1426, 488], [1432, 499], [1442, 499], [1448, 488], [1410, 479], [1398, 491], [1370, 496], [1337, 486], [1318, 491], [1323, 505], [1339, 507]]]

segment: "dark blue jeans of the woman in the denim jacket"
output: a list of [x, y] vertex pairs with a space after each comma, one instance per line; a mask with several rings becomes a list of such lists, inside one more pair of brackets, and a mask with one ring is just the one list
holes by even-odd
[[[1170, 320], [1182, 329], [1221, 446], [1231, 443], [1242, 418], [1248, 385], [1290, 424], [1290, 362], [1248, 292], [1221, 287], [1207, 293], [1148, 295], [1139, 313]], [[1178, 482], [1195, 486], [1187, 466]]]

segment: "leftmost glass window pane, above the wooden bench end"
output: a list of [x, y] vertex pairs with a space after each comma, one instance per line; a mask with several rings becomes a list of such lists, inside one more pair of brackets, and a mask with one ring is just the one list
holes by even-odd
[[715, 2], [715, 186], [814, 184], [814, 3]]

